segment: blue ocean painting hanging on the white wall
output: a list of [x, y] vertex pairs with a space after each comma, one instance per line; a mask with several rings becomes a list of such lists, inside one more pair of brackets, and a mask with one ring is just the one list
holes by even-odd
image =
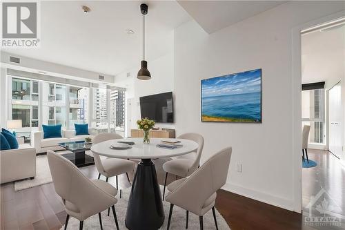
[[201, 80], [202, 122], [262, 122], [262, 69]]

